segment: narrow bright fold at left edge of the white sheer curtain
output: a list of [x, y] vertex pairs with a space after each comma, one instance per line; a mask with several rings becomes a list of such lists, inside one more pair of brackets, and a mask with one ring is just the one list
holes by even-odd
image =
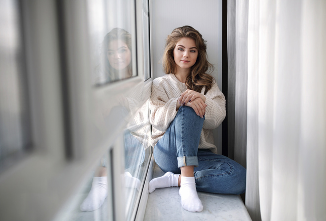
[[248, 7], [247, 176], [245, 206], [253, 221], [260, 221], [258, 183], [258, 64], [259, 0]]

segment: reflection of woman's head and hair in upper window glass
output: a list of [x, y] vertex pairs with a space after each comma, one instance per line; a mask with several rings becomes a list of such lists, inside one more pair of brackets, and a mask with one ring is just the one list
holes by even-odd
[[96, 84], [117, 81], [132, 76], [131, 35], [121, 28], [114, 28], [102, 42], [100, 65]]

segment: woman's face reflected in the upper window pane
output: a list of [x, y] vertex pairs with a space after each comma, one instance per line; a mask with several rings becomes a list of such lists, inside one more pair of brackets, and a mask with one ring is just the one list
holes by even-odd
[[112, 40], [108, 45], [107, 57], [110, 65], [116, 70], [123, 70], [131, 62], [131, 51], [122, 40]]

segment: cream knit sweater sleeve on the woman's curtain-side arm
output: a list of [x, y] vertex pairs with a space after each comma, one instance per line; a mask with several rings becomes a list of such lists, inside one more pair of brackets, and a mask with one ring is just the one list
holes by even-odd
[[218, 88], [217, 83], [214, 83], [204, 96], [207, 107], [203, 128], [215, 129], [222, 123], [226, 116], [225, 97]]

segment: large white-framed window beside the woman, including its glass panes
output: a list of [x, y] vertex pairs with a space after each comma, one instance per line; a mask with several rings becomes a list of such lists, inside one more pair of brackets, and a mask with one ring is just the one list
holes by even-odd
[[[16, 137], [23, 139], [15, 152], [25, 152], [33, 141], [33, 151], [0, 174], [1, 218], [133, 220], [151, 156], [149, 31], [142, 25], [136, 29], [136, 22], [143, 24], [143, 10], [136, 10], [143, 2], [0, 2], [0, 10], [11, 13], [6, 21], [11, 30], [1, 37], [13, 39], [0, 52], [0, 62], [7, 63], [0, 67], [0, 89], [6, 90], [0, 95], [0, 120], [17, 122]], [[3, 19], [7, 15], [1, 13]], [[148, 8], [145, 15], [144, 20]], [[128, 35], [102, 47], [110, 32], [122, 29]], [[130, 63], [110, 63], [111, 55], [118, 55], [114, 61], [123, 54], [121, 63]], [[16, 108], [11, 115], [2, 111], [8, 107]], [[0, 133], [11, 126], [2, 125]], [[0, 163], [11, 158], [2, 155], [2, 147], [7, 146], [1, 143]], [[103, 209], [82, 212], [101, 169], [108, 183]]]

